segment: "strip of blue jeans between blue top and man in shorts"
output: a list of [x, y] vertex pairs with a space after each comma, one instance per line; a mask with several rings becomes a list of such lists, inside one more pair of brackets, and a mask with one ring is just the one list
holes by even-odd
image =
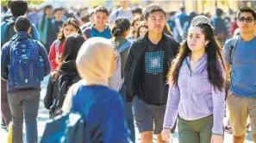
[[127, 103], [125, 100], [125, 86], [122, 85], [119, 94], [122, 96], [122, 100], [125, 108], [126, 121], [128, 123], [128, 129], [130, 131], [130, 139], [135, 143], [135, 129], [134, 129], [134, 115], [132, 110], [132, 103]]

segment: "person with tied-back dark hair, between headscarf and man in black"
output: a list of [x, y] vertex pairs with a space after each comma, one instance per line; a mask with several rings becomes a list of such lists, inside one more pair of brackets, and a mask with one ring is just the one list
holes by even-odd
[[[120, 59], [121, 59], [121, 65], [120, 67], [117, 67], [118, 65], [116, 65], [116, 70], [120, 70], [121, 75], [119, 77], [120, 78], [119, 80], [114, 79], [114, 78], [117, 78], [119, 74], [113, 75], [111, 79], [114, 79], [114, 80], [113, 81], [110, 80], [112, 81], [110, 82], [110, 87], [112, 84], [119, 84], [119, 83], [121, 84], [121, 85], [116, 85], [116, 87], [118, 87], [117, 90], [119, 94], [122, 96], [122, 100], [124, 102], [126, 121], [128, 122], [128, 129], [130, 130], [130, 138], [133, 142], [135, 142], [134, 115], [132, 111], [132, 104], [127, 103], [125, 101], [125, 85], [123, 84], [124, 66], [126, 63], [126, 59], [128, 57], [130, 46], [132, 45], [132, 42], [127, 39], [130, 33], [130, 26], [131, 26], [131, 23], [129, 22], [128, 18], [117, 18], [116, 21], [114, 22], [114, 27], [112, 28], [112, 35], [114, 37], [113, 43], [116, 46], [116, 54], [120, 54]], [[118, 81], [122, 81], [122, 82], [118, 82]]]

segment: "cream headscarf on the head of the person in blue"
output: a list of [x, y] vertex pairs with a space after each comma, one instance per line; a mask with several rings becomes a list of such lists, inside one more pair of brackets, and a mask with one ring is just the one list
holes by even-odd
[[116, 61], [114, 47], [105, 38], [91, 38], [84, 42], [78, 52], [76, 65], [85, 84], [108, 85]]

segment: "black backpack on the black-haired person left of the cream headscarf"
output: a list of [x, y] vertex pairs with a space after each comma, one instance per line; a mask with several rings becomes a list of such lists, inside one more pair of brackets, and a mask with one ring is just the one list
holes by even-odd
[[59, 71], [58, 77], [53, 81], [53, 104], [50, 107], [50, 118], [57, 115], [61, 115], [62, 105], [64, 103], [66, 92], [72, 86], [77, 83], [81, 78], [77, 72], [67, 73]]

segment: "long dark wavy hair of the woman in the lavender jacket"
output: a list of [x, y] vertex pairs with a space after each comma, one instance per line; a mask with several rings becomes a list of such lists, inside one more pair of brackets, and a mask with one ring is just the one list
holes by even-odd
[[[209, 40], [208, 46], [205, 48], [206, 53], [208, 54], [207, 59], [207, 72], [209, 83], [214, 87], [217, 87], [218, 90], [224, 89], [224, 78], [222, 78], [221, 67], [225, 68], [224, 62], [222, 59], [222, 47], [220, 43], [215, 39], [214, 29], [206, 23], [197, 24], [198, 28], [201, 28], [203, 34], [205, 35], [205, 40]], [[169, 79], [172, 85], [178, 85], [178, 73], [181, 68], [181, 65], [184, 59], [189, 56], [191, 53], [190, 48], [188, 47], [187, 40], [179, 47], [177, 57], [172, 61], [172, 67], [169, 72]], [[221, 60], [221, 64], [219, 60]]]

